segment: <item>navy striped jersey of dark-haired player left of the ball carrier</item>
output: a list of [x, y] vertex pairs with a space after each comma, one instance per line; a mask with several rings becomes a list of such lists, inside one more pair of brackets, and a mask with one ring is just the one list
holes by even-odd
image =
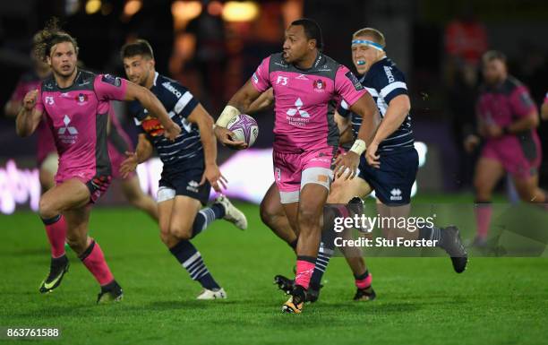
[[135, 125], [152, 142], [162, 163], [164, 172], [175, 172], [187, 168], [203, 166], [203, 148], [198, 126], [188, 121], [188, 116], [199, 102], [193, 94], [180, 83], [156, 73], [150, 91], [164, 105], [169, 117], [181, 127], [181, 134], [174, 142], [163, 135], [164, 127], [158, 118], [150, 116], [141, 103], [134, 100], [129, 105]]

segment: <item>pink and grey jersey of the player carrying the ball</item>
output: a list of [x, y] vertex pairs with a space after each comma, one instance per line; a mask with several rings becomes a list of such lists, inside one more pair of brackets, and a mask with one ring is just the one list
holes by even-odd
[[285, 62], [281, 53], [264, 60], [253, 73], [257, 91], [274, 91], [274, 150], [303, 152], [338, 146], [338, 128], [330, 107], [339, 99], [352, 106], [367, 91], [355, 75], [321, 53], [311, 68]]

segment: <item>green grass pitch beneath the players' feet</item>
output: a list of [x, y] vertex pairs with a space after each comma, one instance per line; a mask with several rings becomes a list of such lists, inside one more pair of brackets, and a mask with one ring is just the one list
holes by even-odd
[[[345, 260], [333, 258], [321, 300], [282, 315], [272, 285], [295, 263], [253, 205], [250, 229], [217, 221], [194, 244], [227, 290], [226, 301], [197, 301], [197, 283], [162, 246], [157, 226], [131, 209], [97, 208], [90, 229], [124, 287], [124, 301], [97, 306], [98, 285], [70, 253], [62, 286], [42, 296], [47, 239], [37, 215], [0, 216], [0, 326], [55, 326], [54, 344], [541, 344], [548, 324], [548, 259], [472, 258], [467, 272], [449, 259], [371, 258], [378, 298], [355, 303]], [[6, 341], [15, 343], [15, 341]]]

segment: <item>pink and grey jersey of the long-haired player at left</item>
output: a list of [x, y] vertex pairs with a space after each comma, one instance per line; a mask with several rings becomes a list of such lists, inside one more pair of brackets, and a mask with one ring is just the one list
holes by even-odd
[[42, 82], [37, 108], [43, 109], [59, 154], [63, 176], [110, 176], [107, 151], [109, 100], [123, 100], [127, 82], [110, 74], [78, 71], [62, 89], [53, 77]]

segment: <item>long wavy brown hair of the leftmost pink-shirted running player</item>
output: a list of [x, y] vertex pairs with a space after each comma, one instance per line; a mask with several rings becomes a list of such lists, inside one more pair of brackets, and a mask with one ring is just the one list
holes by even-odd
[[34, 55], [42, 61], [46, 61], [47, 56], [51, 54], [51, 48], [57, 43], [69, 42], [73, 44], [74, 51], [78, 54], [78, 43], [71, 35], [61, 30], [59, 19], [51, 18], [43, 30], [37, 32], [32, 39]]

